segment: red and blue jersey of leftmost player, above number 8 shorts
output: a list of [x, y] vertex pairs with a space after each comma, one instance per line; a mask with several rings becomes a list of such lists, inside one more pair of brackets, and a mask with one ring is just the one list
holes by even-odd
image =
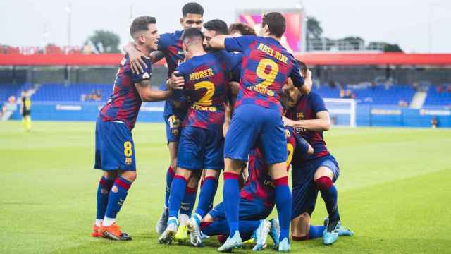
[[138, 111], [142, 104], [135, 83], [152, 77], [152, 64], [149, 59], [144, 59], [144, 61], [147, 64], [144, 73], [135, 74], [130, 68], [128, 55], [123, 57], [114, 80], [113, 93], [99, 113], [99, 117], [103, 121], [121, 121], [129, 130], [135, 127]]

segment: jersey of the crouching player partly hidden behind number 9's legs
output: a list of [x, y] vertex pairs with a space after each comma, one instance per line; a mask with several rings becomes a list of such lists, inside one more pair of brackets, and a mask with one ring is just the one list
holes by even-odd
[[[295, 151], [299, 154], [307, 153], [309, 146], [300, 138], [291, 127], [285, 127], [285, 138], [287, 138], [287, 171], [290, 169], [292, 157]], [[249, 152], [249, 163], [247, 166], [249, 177], [240, 192], [240, 197], [247, 200], [263, 203], [272, 208], [275, 202], [275, 186], [269, 176], [268, 165], [264, 162], [264, 155], [259, 147], [254, 147]]]

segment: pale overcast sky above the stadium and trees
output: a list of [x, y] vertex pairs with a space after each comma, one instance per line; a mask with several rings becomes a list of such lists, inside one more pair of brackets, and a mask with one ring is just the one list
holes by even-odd
[[[323, 35], [333, 39], [359, 36], [369, 41], [399, 44], [407, 53], [451, 52], [451, 1], [447, 0], [226, 0], [198, 1], [204, 20], [236, 21], [237, 9], [294, 8], [302, 4], [307, 16], [315, 16]], [[82, 45], [94, 30], [111, 30], [130, 40], [131, 18], [155, 16], [159, 32], [180, 30], [180, 0], [2, 0], [0, 44], [44, 46], [68, 44], [68, 12], [71, 4], [70, 44]]]

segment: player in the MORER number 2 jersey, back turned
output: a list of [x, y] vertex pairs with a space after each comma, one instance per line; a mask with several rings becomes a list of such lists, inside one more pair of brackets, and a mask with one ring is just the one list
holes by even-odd
[[[199, 194], [199, 204], [194, 216], [197, 221], [188, 222], [191, 242], [200, 243], [200, 219], [208, 212], [218, 188], [218, 176], [223, 164], [223, 123], [227, 101], [227, 85], [230, 71], [238, 66], [240, 59], [225, 51], [207, 54], [204, 35], [199, 29], [189, 28], [183, 32], [183, 51], [187, 61], [177, 68], [183, 76], [182, 92], [190, 102], [178, 146], [177, 171], [171, 183], [169, 195], [169, 219], [159, 243], [169, 244], [178, 230], [178, 211], [185, 193], [187, 180], [192, 171], [204, 170], [205, 181]], [[207, 182], [208, 181], [208, 182]], [[198, 237], [196, 237], [198, 236]]]

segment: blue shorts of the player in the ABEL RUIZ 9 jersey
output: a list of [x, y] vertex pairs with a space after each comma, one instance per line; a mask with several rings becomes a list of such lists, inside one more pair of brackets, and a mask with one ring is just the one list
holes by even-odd
[[287, 139], [280, 111], [242, 104], [233, 112], [224, 157], [247, 162], [249, 150], [257, 145], [261, 147], [266, 164], [287, 160]]

